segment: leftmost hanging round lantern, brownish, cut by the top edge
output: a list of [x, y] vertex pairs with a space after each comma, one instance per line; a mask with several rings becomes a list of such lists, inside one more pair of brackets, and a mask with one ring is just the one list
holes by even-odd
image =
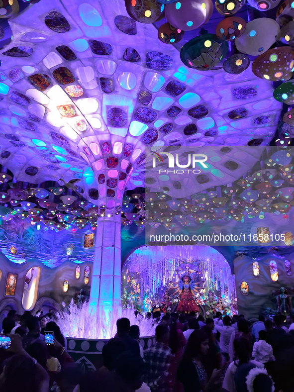
[[140, 23], [154, 23], [163, 16], [165, 7], [157, 0], [125, 0], [124, 4], [130, 17]]

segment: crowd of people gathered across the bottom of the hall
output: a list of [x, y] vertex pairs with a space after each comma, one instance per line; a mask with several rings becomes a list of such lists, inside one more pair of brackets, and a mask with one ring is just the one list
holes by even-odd
[[[103, 365], [83, 373], [54, 313], [10, 311], [2, 323], [11, 344], [0, 350], [0, 392], [294, 391], [294, 317], [165, 314], [156, 343], [144, 351], [137, 325], [127, 318], [116, 325], [103, 346]], [[54, 331], [53, 344], [45, 344], [45, 331]]]

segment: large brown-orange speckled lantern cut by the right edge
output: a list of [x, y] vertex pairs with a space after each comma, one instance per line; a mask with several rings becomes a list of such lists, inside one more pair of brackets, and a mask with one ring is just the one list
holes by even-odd
[[293, 67], [293, 50], [288, 46], [280, 46], [254, 59], [252, 72], [259, 78], [276, 82], [291, 79]]

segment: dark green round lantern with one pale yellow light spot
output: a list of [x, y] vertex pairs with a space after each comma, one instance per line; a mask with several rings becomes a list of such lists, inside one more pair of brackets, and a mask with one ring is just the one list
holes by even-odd
[[182, 62], [198, 71], [213, 69], [227, 54], [228, 43], [215, 34], [202, 34], [188, 41], [181, 49]]

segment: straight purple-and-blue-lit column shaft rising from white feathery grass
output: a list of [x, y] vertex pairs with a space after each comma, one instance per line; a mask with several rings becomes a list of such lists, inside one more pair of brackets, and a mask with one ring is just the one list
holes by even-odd
[[[105, 211], [106, 212], [106, 211]], [[121, 307], [120, 214], [98, 218], [90, 306]]]

